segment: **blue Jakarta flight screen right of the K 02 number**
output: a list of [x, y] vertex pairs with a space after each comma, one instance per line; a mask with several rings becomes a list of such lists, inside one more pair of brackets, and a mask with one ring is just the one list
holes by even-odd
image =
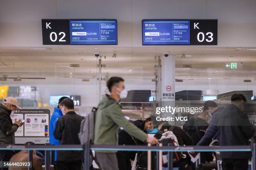
[[71, 45], [117, 45], [117, 20], [69, 20]]

